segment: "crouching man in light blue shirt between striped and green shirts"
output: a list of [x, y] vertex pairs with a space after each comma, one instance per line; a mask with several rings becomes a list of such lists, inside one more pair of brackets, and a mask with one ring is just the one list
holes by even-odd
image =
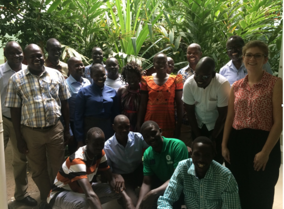
[[108, 165], [113, 173], [122, 175], [126, 194], [136, 206], [138, 198], [135, 189], [143, 181], [143, 150], [149, 145], [140, 133], [130, 131], [129, 119], [124, 115], [115, 118], [113, 129], [116, 133], [105, 142], [104, 147]]

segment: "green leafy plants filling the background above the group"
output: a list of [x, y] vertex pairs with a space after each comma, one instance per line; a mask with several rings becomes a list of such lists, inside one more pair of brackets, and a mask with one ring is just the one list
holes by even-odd
[[2, 42], [8, 34], [22, 47], [43, 48], [56, 38], [66, 45], [63, 59], [76, 55], [91, 62], [91, 48], [100, 46], [121, 67], [134, 60], [146, 69], [163, 52], [178, 70], [187, 65], [187, 46], [199, 43], [219, 71], [229, 61], [227, 39], [239, 35], [245, 42], [266, 42], [269, 63], [278, 71], [282, 0], [0, 0], [0, 7]]

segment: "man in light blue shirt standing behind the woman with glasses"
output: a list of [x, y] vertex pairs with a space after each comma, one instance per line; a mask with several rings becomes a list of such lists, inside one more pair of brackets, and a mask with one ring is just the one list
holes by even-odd
[[[247, 75], [247, 70], [243, 65], [243, 46], [244, 41], [239, 36], [231, 36], [226, 43], [227, 54], [231, 60], [220, 69], [219, 74], [224, 76], [231, 86], [235, 81], [239, 81]], [[273, 74], [268, 63], [264, 64], [262, 68], [267, 73]]]

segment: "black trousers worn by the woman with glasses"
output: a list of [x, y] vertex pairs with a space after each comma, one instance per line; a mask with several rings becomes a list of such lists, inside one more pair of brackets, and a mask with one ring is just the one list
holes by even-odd
[[259, 153], [269, 131], [233, 128], [228, 141], [231, 171], [239, 186], [242, 209], [272, 209], [274, 188], [281, 165], [280, 140], [271, 151], [265, 170], [255, 171], [254, 157]]

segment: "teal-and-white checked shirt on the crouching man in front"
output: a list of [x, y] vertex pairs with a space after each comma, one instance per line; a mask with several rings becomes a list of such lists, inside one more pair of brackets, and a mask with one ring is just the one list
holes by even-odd
[[181, 161], [158, 200], [158, 209], [172, 209], [182, 192], [187, 209], [241, 209], [233, 174], [214, 160], [200, 180], [195, 176], [192, 159]]

